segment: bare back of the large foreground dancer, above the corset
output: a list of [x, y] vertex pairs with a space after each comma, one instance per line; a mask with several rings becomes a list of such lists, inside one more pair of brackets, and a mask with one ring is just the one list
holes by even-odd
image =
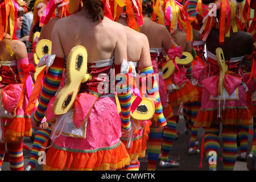
[[[92, 63], [110, 59], [114, 51], [119, 52], [121, 49], [121, 55], [114, 55], [121, 64], [122, 59], [127, 59], [124, 27], [106, 17], [102, 23], [94, 22], [86, 18], [88, 14], [85, 12], [81, 10], [56, 22], [52, 31], [53, 54], [68, 57], [73, 47], [81, 45], [87, 49], [88, 63]], [[120, 46], [122, 42], [125, 44], [123, 47]]]

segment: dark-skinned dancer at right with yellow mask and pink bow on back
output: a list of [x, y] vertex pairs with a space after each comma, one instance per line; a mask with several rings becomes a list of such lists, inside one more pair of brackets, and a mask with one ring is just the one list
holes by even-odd
[[[213, 153], [217, 161], [222, 123], [224, 170], [233, 170], [237, 159], [238, 125], [251, 124], [251, 114], [242, 85], [241, 64], [252, 59], [253, 39], [250, 34], [237, 29], [236, 11], [239, 2], [202, 2], [206, 6], [215, 3], [217, 12], [216, 16], [205, 16], [201, 24], [200, 32], [207, 45], [207, 64], [201, 109], [194, 126], [204, 127], [202, 149], [205, 150], [208, 161]], [[202, 151], [202, 157], [203, 154]], [[217, 164], [209, 163], [209, 169], [216, 170]]]

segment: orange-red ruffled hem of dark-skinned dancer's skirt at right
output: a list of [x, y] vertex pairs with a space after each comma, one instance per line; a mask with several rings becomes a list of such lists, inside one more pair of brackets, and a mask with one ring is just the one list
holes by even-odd
[[196, 121], [193, 126], [195, 127], [210, 127], [213, 123], [218, 125], [222, 122], [222, 125], [251, 125], [251, 113], [249, 109], [225, 109], [222, 110], [221, 118], [218, 118], [217, 109], [199, 111], [196, 117]]

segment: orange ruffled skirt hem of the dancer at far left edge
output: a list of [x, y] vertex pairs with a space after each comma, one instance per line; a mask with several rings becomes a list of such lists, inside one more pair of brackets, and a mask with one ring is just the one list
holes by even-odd
[[31, 137], [32, 127], [30, 118], [14, 118], [5, 129], [5, 140], [19, 141], [19, 137]]

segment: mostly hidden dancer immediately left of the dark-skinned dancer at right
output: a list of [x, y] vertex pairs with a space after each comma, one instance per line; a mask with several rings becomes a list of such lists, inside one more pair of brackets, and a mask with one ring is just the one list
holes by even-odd
[[[197, 5], [200, 6], [200, 5]], [[187, 17], [187, 41], [190, 40], [192, 43], [192, 55], [194, 60], [192, 62], [192, 77], [190, 78], [193, 85], [196, 86], [198, 91], [198, 99], [195, 102], [185, 102], [183, 105], [183, 117], [186, 123], [185, 133], [191, 134], [191, 139], [189, 140], [189, 155], [199, 154], [199, 142], [197, 140], [197, 133], [199, 127], [193, 126], [196, 116], [201, 107], [201, 97], [202, 97], [202, 81], [204, 79], [205, 73], [205, 41], [201, 40], [201, 34], [198, 30], [195, 30], [191, 26], [189, 21], [189, 16], [187, 13], [188, 1], [184, 3], [183, 13]], [[191, 29], [191, 30], [190, 30]], [[190, 35], [189, 35], [190, 34]], [[191, 35], [192, 34], [192, 35]]]

